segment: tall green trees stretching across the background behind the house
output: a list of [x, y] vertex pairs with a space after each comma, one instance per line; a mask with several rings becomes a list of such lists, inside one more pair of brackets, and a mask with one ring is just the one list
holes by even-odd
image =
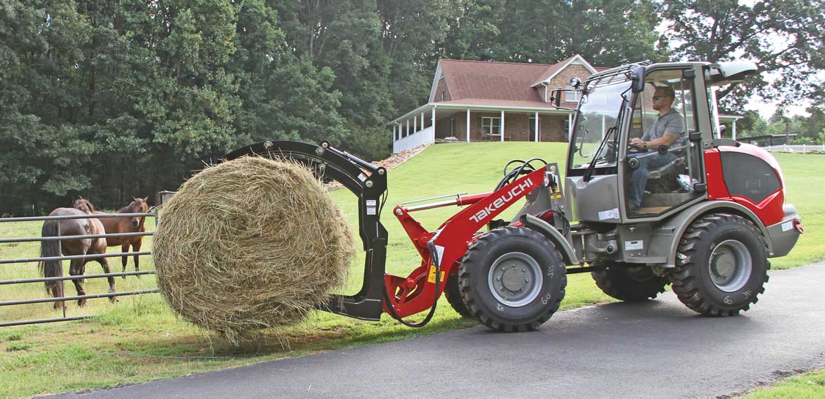
[[[265, 139], [367, 159], [438, 59], [757, 60], [821, 109], [823, 0], [0, 0], [0, 214], [117, 209]], [[664, 27], [665, 29], [662, 29]], [[777, 40], [779, 38], [779, 40]]]

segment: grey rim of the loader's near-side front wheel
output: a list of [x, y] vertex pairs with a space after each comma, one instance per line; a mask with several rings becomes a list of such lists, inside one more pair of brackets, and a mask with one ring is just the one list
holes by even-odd
[[533, 302], [541, 292], [541, 267], [532, 256], [509, 252], [493, 262], [487, 283], [498, 302], [522, 307]]

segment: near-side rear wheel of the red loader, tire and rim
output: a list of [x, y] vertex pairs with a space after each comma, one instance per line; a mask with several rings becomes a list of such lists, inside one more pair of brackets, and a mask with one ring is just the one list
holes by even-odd
[[734, 316], [765, 292], [767, 245], [759, 229], [734, 214], [696, 219], [679, 243], [669, 273], [681, 303], [705, 316]]

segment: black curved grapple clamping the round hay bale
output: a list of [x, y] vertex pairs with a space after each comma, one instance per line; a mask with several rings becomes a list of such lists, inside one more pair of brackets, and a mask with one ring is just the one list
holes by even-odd
[[238, 148], [221, 157], [227, 161], [243, 156], [299, 162], [322, 181], [338, 181], [358, 198], [358, 233], [365, 251], [364, 279], [354, 295], [333, 294], [318, 308], [361, 320], [380, 320], [383, 312], [384, 267], [387, 230], [381, 224], [381, 208], [387, 191], [387, 171], [342, 152], [326, 141], [318, 145], [295, 141], [266, 141]]

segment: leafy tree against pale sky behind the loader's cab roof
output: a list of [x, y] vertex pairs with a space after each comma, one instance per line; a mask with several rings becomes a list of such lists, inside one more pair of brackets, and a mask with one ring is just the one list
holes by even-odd
[[[825, 68], [823, 0], [766, 0], [748, 5], [737, 0], [664, 0], [672, 29], [667, 38], [679, 43], [677, 58], [716, 63], [752, 59], [761, 74], [718, 94], [728, 112], [741, 111], [754, 92], [783, 105], [821, 98], [817, 73]], [[773, 79], [775, 77], [775, 79]]]

